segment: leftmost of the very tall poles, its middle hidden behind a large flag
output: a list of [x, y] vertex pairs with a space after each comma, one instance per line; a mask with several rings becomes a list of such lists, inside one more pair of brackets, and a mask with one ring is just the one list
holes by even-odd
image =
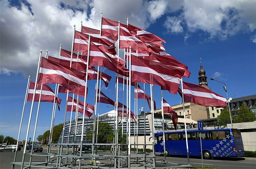
[[[70, 68], [71, 68], [71, 65], [72, 65], [72, 56], [73, 56], [73, 50], [74, 50], [75, 31], [76, 31], [76, 26], [74, 25], [74, 32], [73, 32], [73, 39], [72, 39], [72, 49], [71, 49], [71, 58], [70, 58], [70, 65], [69, 65]], [[67, 108], [68, 108], [68, 94], [69, 94], [69, 90], [67, 90], [67, 97], [66, 97], [66, 108], [65, 108], [65, 115], [64, 115], [64, 122], [63, 122], [63, 131], [62, 131], [62, 138], [61, 138], [60, 155], [62, 155], [62, 151], [63, 151], [63, 141], [64, 141], [64, 134], [65, 134], [66, 118], [67, 118]], [[59, 158], [59, 167], [60, 166], [61, 166], [61, 156]]]

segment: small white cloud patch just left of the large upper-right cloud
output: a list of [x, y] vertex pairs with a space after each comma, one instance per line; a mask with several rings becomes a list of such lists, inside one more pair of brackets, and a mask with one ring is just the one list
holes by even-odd
[[164, 26], [172, 33], [181, 33], [183, 32], [183, 27], [181, 26], [182, 20], [182, 17], [167, 16]]

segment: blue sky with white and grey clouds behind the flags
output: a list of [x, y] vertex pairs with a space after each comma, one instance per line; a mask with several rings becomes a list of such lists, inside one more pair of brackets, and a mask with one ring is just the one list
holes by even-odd
[[[62, 49], [71, 51], [74, 25], [99, 29], [100, 15], [141, 27], [166, 41], [166, 52], [188, 66], [189, 78], [183, 81], [199, 84], [200, 58], [208, 77], [208, 86], [226, 97], [237, 98], [256, 94], [256, 1], [255, 0], [51, 0], [0, 1], [0, 134], [18, 138], [27, 79], [35, 81], [39, 51], [58, 57]], [[123, 53], [123, 50], [120, 50]], [[123, 54], [120, 55], [123, 58]], [[102, 92], [114, 100], [115, 73], [109, 87]], [[94, 105], [95, 80], [89, 81], [87, 103]], [[102, 83], [103, 84], [103, 83]], [[49, 84], [54, 90], [55, 85]], [[143, 84], [140, 84], [143, 86]], [[133, 91], [133, 88], [132, 88]], [[123, 86], [119, 85], [119, 100], [123, 100]], [[146, 93], [150, 95], [149, 85]], [[54, 124], [63, 123], [66, 95]], [[126, 96], [125, 96], [126, 97]], [[180, 95], [163, 91], [170, 104], [180, 104]], [[161, 89], [154, 86], [154, 100], [161, 108]], [[125, 105], [126, 105], [126, 99]], [[29, 136], [33, 138], [38, 103], [34, 104]], [[41, 103], [35, 138], [50, 129], [52, 103]], [[99, 114], [113, 110], [100, 104]], [[144, 107], [139, 100], [138, 107]], [[27, 102], [20, 140], [26, 139], [31, 102]], [[132, 96], [132, 108], [134, 101]], [[144, 111], [149, 111], [148, 105]], [[140, 111], [139, 111], [140, 113]], [[70, 112], [67, 119], [70, 119]], [[74, 119], [75, 116], [73, 115]]]

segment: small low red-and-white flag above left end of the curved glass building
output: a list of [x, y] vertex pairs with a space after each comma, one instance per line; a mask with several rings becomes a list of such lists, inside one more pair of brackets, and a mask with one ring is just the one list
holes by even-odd
[[[83, 114], [84, 102], [79, 100], [78, 105], [77, 105], [77, 100], [74, 99], [73, 109], [72, 109], [72, 97], [68, 96], [67, 111], [74, 111], [75, 112], [77, 106], [78, 106], [78, 112]], [[84, 115], [90, 118], [91, 115], [93, 115], [93, 112], [94, 112], [94, 106], [86, 103], [85, 114]]]

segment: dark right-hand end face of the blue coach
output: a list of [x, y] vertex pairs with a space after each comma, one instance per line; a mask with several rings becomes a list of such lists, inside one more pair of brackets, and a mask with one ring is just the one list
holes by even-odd
[[233, 152], [236, 152], [236, 156], [244, 156], [244, 145], [242, 141], [242, 135], [240, 130], [238, 129], [231, 129], [232, 132], [230, 132], [231, 140], [234, 141], [234, 147]]

